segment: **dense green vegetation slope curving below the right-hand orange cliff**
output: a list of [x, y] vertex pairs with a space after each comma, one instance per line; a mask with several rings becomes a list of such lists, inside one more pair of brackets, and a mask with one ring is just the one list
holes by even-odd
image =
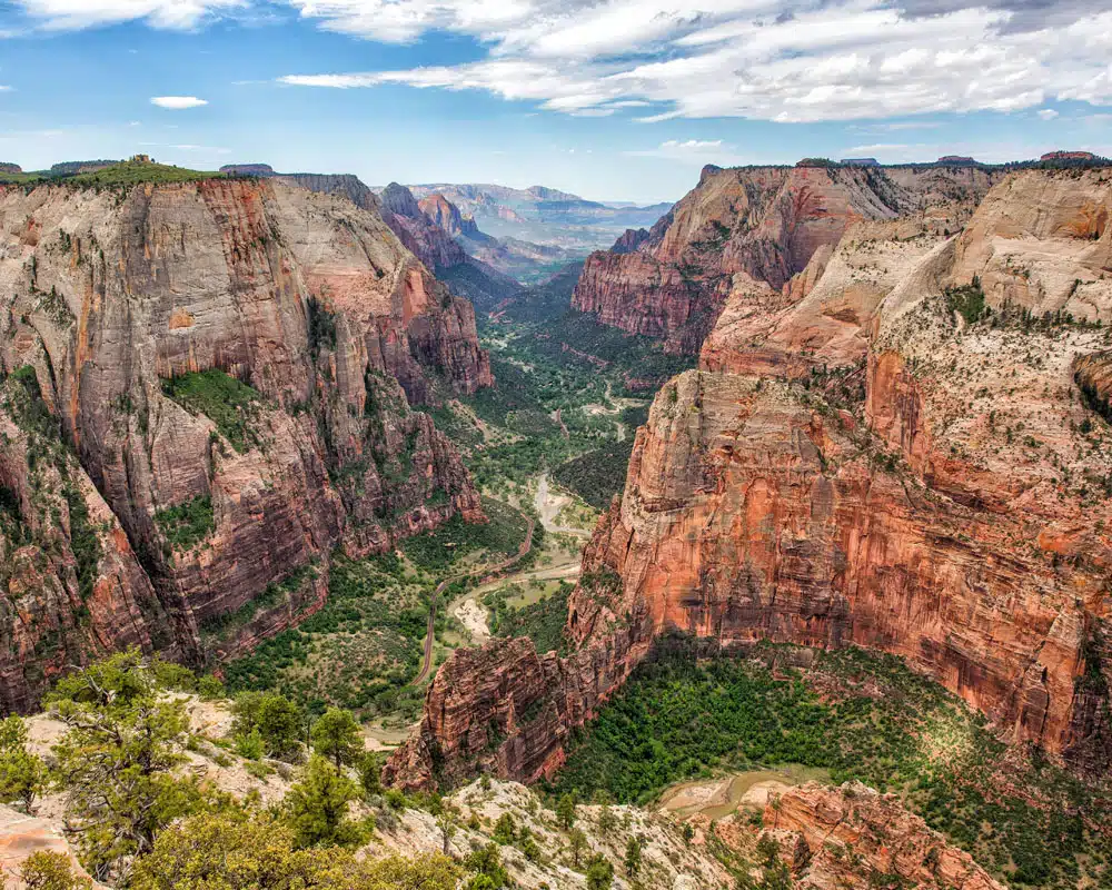
[[1010, 883], [1112, 884], [1106, 791], [1037, 752], [1007, 759], [980, 714], [894, 656], [816, 653], [804, 671], [792, 647], [751, 654], [699, 661], [665, 641], [580, 733], [555, 790], [645, 802], [714, 769], [822, 767], [900, 793]]

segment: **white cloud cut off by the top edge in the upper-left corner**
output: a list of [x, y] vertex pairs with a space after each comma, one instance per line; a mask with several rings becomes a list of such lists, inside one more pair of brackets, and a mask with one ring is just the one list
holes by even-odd
[[247, 6], [249, 0], [17, 0], [51, 30], [78, 30], [145, 20], [155, 28], [193, 28], [212, 14]]

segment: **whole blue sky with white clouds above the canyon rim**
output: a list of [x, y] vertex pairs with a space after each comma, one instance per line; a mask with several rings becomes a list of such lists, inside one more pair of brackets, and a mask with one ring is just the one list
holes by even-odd
[[677, 199], [711, 162], [1112, 155], [1110, 10], [0, 0], [0, 160], [143, 151], [648, 202]]

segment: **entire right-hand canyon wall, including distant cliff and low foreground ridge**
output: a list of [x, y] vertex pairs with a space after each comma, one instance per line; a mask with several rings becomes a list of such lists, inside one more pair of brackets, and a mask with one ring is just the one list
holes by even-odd
[[[657, 394], [584, 552], [570, 654], [456, 653], [391, 781], [553, 777], [677, 631], [897, 654], [1004, 740], [1106, 774], [1112, 180], [888, 168], [886, 204], [871, 172], [711, 169], [588, 261], [580, 309], [698, 368]], [[715, 222], [714, 275], [667, 277]]]

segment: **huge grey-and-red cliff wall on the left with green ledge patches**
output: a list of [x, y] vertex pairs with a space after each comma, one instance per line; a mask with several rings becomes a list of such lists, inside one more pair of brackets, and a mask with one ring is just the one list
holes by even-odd
[[492, 384], [474, 312], [344, 197], [2, 190], [0, 299], [4, 545], [27, 554], [4, 580], [6, 709], [121, 645], [198, 661], [205, 627], [275, 584], [245, 633], [281, 630], [319, 604], [337, 545], [483, 518], [409, 407], [430, 372]]

